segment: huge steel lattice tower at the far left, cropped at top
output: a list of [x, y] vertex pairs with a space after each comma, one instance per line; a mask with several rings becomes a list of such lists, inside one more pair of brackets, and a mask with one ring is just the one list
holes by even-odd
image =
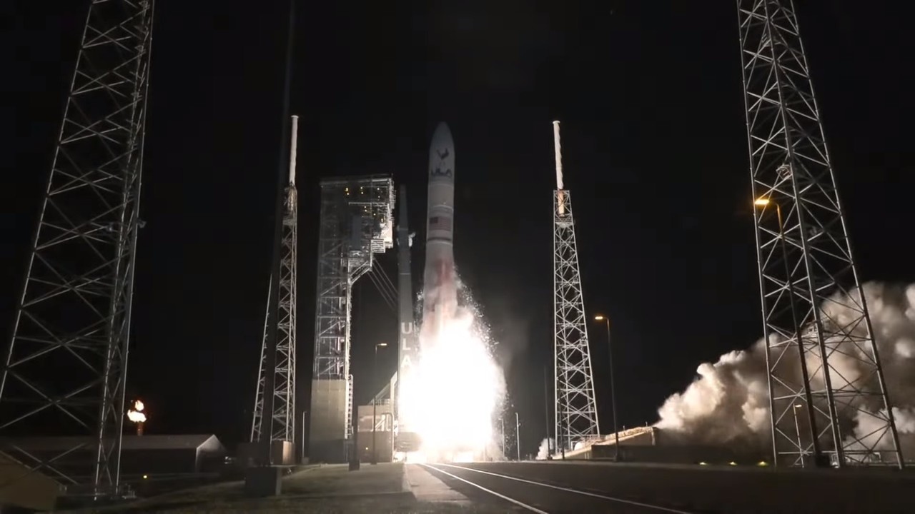
[[94, 0], [0, 379], [4, 447], [68, 493], [120, 493], [153, 1]]

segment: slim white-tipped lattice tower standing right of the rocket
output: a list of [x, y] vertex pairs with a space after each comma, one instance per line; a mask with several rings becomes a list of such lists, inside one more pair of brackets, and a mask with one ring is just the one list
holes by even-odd
[[553, 195], [554, 378], [557, 449], [600, 434], [587, 346], [587, 316], [581, 294], [572, 198], [563, 188], [559, 122], [553, 122], [556, 190]]

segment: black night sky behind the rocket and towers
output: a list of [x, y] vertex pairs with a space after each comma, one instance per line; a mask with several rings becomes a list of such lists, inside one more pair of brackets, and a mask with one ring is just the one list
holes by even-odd
[[[0, 45], [5, 328], [87, 2], [68, 4], [18, 0], [0, 16], [15, 26]], [[563, 122], [586, 308], [614, 326], [620, 424], [653, 423], [700, 362], [759, 337], [734, 2], [298, 4], [291, 105], [301, 116], [303, 383], [318, 178], [393, 174], [409, 188], [421, 241], [426, 153], [439, 121], [456, 144], [456, 260], [501, 342], [523, 451], [544, 435], [543, 367], [552, 366], [554, 119]], [[915, 48], [896, 3], [860, 5], [805, 3], [802, 35], [860, 275], [913, 281]], [[128, 380], [150, 406], [150, 433], [215, 432], [233, 444], [250, 428], [287, 9], [157, 5]], [[417, 248], [417, 279], [422, 258]], [[381, 262], [393, 277], [393, 252]], [[371, 283], [357, 289], [353, 360], [365, 400], [371, 347], [392, 340], [395, 324]], [[601, 327], [591, 340], [608, 427]], [[392, 371], [393, 352], [380, 365]]]

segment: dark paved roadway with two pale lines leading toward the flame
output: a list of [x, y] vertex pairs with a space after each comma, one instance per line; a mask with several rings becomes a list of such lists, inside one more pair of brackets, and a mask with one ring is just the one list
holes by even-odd
[[593, 461], [420, 466], [474, 504], [518, 512], [915, 512], [915, 473], [908, 470]]

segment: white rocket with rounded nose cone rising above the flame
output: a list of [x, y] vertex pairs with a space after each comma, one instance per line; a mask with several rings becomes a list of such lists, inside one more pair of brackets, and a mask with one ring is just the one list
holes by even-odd
[[435, 333], [458, 309], [454, 256], [455, 144], [446, 123], [438, 123], [429, 147], [429, 189], [425, 220], [423, 331]]

